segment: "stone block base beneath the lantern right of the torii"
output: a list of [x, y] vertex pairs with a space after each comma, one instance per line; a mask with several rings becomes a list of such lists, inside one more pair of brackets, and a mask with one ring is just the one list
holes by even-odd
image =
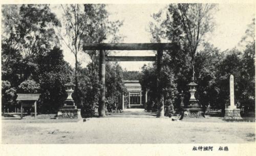
[[201, 108], [183, 108], [180, 120], [185, 118], [205, 118]]

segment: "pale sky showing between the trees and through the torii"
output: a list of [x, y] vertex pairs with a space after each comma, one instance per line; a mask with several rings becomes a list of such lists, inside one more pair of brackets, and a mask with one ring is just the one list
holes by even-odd
[[[151, 34], [147, 31], [151, 15], [165, 8], [164, 4], [111, 4], [107, 10], [113, 20], [123, 20], [120, 34], [125, 36], [126, 43], [150, 42]], [[221, 51], [232, 49], [238, 45], [245, 34], [247, 25], [252, 21], [254, 5], [251, 4], [219, 4], [219, 10], [215, 14], [215, 31], [208, 35], [208, 41]], [[65, 59], [74, 66], [74, 56], [69, 49], [62, 47]], [[123, 51], [115, 55], [155, 55], [148, 51]], [[80, 56], [79, 61], [85, 66], [89, 61], [87, 57]], [[119, 62], [127, 71], [140, 71], [143, 64], [148, 62]]]

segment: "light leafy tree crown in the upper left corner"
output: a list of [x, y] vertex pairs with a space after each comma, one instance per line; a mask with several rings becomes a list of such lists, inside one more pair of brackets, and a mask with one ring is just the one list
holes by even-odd
[[60, 26], [49, 5], [4, 5], [3, 43], [25, 57], [43, 53], [58, 43], [54, 27]]

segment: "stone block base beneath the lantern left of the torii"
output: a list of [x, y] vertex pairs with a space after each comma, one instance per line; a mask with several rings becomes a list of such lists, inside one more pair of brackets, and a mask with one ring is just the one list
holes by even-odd
[[60, 108], [58, 109], [58, 119], [78, 119], [78, 109]]

